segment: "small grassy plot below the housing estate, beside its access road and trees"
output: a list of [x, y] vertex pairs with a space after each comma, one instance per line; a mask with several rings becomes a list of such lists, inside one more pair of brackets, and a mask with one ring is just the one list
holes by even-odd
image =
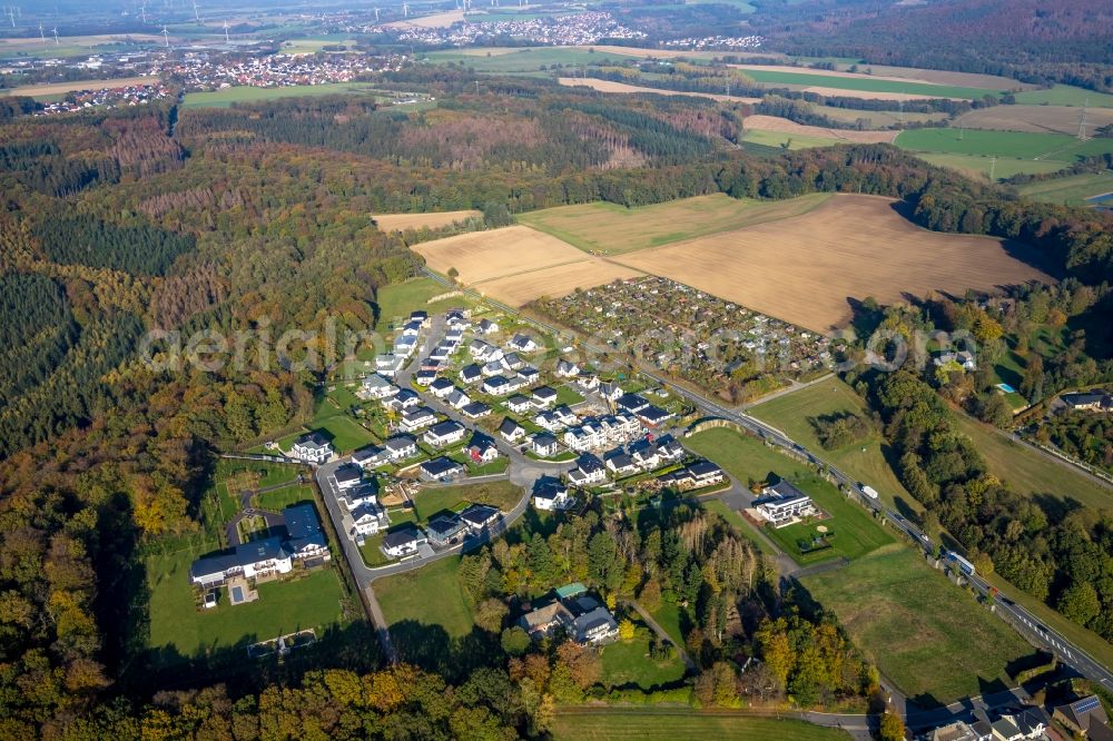
[[460, 585], [460, 559], [449, 556], [418, 569], [375, 582], [375, 596], [386, 622], [440, 625], [450, 638], [467, 635], [475, 624], [467, 596]]

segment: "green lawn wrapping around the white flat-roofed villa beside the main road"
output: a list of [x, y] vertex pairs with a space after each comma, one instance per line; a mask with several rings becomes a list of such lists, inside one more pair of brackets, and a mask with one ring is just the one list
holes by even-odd
[[[819, 478], [810, 468], [762, 442], [733, 429], [720, 427], [701, 432], [686, 441], [696, 453], [715, 461], [739, 482], [765, 481], [780, 476], [809, 494], [830, 517], [821, 523], [798, 523], [779, 530], [767, 527], [766, 535], [801, 565], [810, 565], [835, 557], [859, 559], [893, 542], [889, 535], [859, 505], [848, 501], [830, 483]], [[835, 537], [831, 547], [814, 553], [801, 553], [800, 539], [810, 540], [816, 525], [826, 525]]]

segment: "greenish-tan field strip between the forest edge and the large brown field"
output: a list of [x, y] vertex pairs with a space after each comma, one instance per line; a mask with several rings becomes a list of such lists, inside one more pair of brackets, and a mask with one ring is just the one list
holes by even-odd
[[810, 211], [828, 197], [815, 194], [757, 201], [717, 194], [636, 208], [593, 202], [531, 211], [518, 220], [584, 251], [613, 255], [791, 218]]

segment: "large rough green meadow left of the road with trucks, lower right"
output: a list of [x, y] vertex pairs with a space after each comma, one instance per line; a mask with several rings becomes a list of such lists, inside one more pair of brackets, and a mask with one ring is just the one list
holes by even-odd
[[1013, 686], [1013, 662], [1033, 652], [969, 593], [897, 544], [802, 583], [881, 674], [922, 704]]

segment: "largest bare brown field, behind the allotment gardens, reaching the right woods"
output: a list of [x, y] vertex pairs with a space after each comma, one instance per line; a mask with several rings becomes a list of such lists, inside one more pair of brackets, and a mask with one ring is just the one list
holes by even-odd
[[998, 239], [920, 229], [893, 202], [838, 195], [804, 216], [610, 259], [817, 332], [845, 325], [851, 299], [1052, 280]]

